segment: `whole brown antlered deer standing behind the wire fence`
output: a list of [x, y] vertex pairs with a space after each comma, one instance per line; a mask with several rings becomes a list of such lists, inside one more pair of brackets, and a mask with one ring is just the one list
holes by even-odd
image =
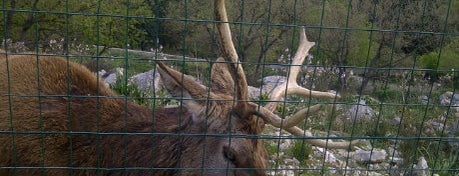
[[[296, 84], [298, 65], [314, 45], [302, 30], [289, 84], [276, 88], [266, 107], [250, 102], [224, 1], [216, 7], [223, 58], [212, 67], [209, 87], [157, 62], [167, 91], [181, 106], [137, 105], [63, 57], [2, 52], [0, 175], [266, 175], [266, 151], [258, 138], [265, 123], [310, 136], [295, 125], [319, 108], [282, 119], [272, 111], [283, 95], [336, 95]], [[307, 141], [328, 148], [355, 144]]]

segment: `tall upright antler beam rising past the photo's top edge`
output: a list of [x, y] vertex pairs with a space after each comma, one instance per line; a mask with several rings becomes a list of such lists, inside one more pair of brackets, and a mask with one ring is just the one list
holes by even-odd
[[248, 84], [245, 78], [244, 70], [242, 69], [242, 64], [239, 62], [239, 57], [237, 55], [236, 49], [234, 48], [233, 40], [231, 37], [231, 29], [228, 23], [228, 15], [226, 14], [225, 1], [217, 0], [216, 1], [216, 18], [217, 21], [217, 30], [219, 33], [219, 39], [221, 48], [224, 54], [224, 58], [230, 62], [231, 75], [236, 82], [236, 97], [237, 100], [241, 102], [237, 103], [238, 112], [244, 114], [249, 114], [252, 111], [248, 107]]

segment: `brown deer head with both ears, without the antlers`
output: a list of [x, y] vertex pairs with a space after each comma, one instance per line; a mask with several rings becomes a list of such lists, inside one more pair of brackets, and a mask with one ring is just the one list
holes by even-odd
[[[217, 61], [222, 62], [223, 59]], [[205, 169], [182, 173], [264, 175], [262, 169], [267, 167], [266, 151], [257, 139], [263, 122], [257, 121], [255, 116], [239, 114], [235, 106], [238, 103], [232, 97], [234, 82], [226, 65], [213, 65], [210, 90], [161, 62], [158, 62], [158, 66], [166, 89], [193, 114], [191, 122], [188, 123], [199, 128], [196, 131], [184, 131], [187, 135], [199, 137], [186, 138], [197, 141], [195, 146], [187, 146], [187, 151], [182, 152], [181, 158], [186, 160], [179, 165], [181, 168]]]

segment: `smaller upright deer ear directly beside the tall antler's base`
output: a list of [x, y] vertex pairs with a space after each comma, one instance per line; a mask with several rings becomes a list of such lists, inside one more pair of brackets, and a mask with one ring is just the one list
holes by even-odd
[[231, 77], [227, 64], [223, 62], [225, 62], [225, 59], [220, 57], [212, 66], [210, 90], [213, 93], [234, 96], [234, 80]]

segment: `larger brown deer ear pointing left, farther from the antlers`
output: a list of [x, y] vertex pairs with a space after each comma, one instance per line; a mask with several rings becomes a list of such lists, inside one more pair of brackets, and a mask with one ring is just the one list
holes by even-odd
[[[194, 117], [202, 117], [206, 109], [206, 99], [210, 96], [207, 88], [162, 62], [157, 64], [159, 75], [167, 91], [175, 99], [181, 100], [183, 105], [193, 112]], [[199, 119], [193, 118], [193, 120]]]

